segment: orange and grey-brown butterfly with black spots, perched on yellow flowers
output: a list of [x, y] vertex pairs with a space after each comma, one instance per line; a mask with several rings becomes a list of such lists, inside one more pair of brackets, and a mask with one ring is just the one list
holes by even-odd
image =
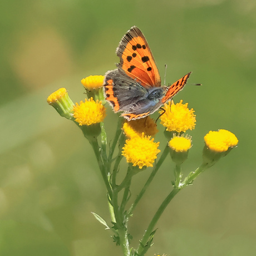
[[116, 54], [120, 58], [115, 70], [104, 79], [105, 98], [123, 117], [140, 119], [154, 113], [182, 90], [190, 73], [170, 86], [161, 86], [161, 78], [145, 36], [136, 26], [122, 37]]

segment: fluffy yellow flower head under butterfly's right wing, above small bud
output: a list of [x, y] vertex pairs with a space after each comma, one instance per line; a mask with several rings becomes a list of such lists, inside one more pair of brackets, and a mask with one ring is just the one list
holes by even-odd
[[[164, 114], [160, 116], [160, 124], [166, 127], [167, 131], [185, 132], [195, 128], [195, 115], [193, 109], [188, 109], [188, 103], [182, 104], [183, 100], [174, 104], [169, 101], [164, 105]], [[163, 113], [163, 110], [159, 112]]]

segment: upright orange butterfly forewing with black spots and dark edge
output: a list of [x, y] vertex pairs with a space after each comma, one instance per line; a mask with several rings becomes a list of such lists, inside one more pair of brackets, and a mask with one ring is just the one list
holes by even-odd
[[161, 86], [161, 78], [146, 38], [139, 28], [131, 27], [116, 49], [120, 63], [117, 67], [142, 86]]

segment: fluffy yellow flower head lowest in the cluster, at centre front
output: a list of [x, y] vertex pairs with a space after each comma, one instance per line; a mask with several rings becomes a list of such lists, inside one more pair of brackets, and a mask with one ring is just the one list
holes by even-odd
[[153, 166], [153, 163], [160, 152], [157, 147], [159, 142], [150, 140], [150, 136], [132, 137], [126, 140], [125, 146], [122, 148], [122, 155], [126, 157], [127, 163], [132, 163], [133, 166]]

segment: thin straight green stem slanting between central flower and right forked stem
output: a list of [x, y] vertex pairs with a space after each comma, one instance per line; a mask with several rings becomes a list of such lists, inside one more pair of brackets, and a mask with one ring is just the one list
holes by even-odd
[[146, 189], [149, 187], [151, 181], [154, 179], [157, 171], [159, 170], [160, 166], [163, 164], [166, 156], [168, 155], [168, 152], [169, 152], [169, 146], [166, 145], [160, 159], [157, 161], [156, 165], [154, 166], [154, 169], [152, 170], [152, 173], [150, 174], [149, 176], [149, 179], [147, 179], [144, 187], [141, 189], [139, 195], [137, 195], [134, 203], [131, 205], [131, 208], [129, 209], [128, 211], [128, 214], [131, 215], [132, 212], [134, 211], [134, 209], [136, 208], [136, 205], [139, 203], [140, 199], [142, 198], [142, 196], [144, 195]]

